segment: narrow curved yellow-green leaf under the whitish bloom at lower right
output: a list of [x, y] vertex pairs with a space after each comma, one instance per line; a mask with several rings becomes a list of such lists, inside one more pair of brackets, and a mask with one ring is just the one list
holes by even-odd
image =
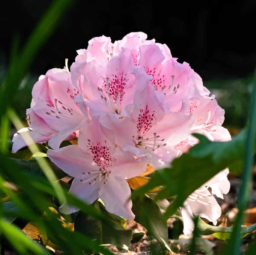
[[[201, 235], [211, 235], [213, 234], [216, 238], [226, 241], [231, 238], [231, 233], [233, 232], [233, 227], [219, 227], [211, 226], [205, 223], [201, 218], [198, 218], [198, 230]], [[256, 224], [241, 227], [240, 235], [241, 238], [256, 230]]]

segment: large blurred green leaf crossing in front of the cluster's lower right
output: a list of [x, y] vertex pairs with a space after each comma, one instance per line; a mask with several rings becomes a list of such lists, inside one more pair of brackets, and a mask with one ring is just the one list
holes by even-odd
[[246, 133], [245, 129], [229, 142], [211, 142], [205, 136], [195, 134], [200, 143], [193, 146], [188, 154], [175, 159], [171, 168], [156, 171], [146, 185], [133, 192], [132, 197], [143, 197], [151, 189], [163, 185], [156, 199], [177, 195], [166, 211], [165, 217], [168, 218], [183, 206], [195, 189], [218, 172], [227, 167], [230, 167], [230, 171], [238, 171], [237, 165], [243, 161]]

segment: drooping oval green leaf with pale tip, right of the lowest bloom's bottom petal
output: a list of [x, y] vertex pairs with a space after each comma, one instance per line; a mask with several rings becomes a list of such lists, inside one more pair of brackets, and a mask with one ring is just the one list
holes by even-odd
[[157, 203], [149, 197], [132, 199], [132, 209], [135, 221], [143, 225], [148, 234], [152, 235], [159, 243], [168, 243], [167, 222], [163, 220], [163, 214]]

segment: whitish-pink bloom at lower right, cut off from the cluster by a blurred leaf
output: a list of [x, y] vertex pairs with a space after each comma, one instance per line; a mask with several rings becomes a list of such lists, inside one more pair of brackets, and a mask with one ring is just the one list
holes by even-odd
[[[184, 235], [190, 235], [194, 229], [193, 214], [206, 218], [214, 225], [217, 224], [217, 219], [221, 217], [221, 207], [213, 194], [223, 199], [223, 194], [228, 193], [230, 190], [230, 182], [227, 180], [228, 173], [228, 169], [221, 171], [186, 199], [184, 207], [181, 208]], [[211, 188], [212, 192], [208, 188]]]

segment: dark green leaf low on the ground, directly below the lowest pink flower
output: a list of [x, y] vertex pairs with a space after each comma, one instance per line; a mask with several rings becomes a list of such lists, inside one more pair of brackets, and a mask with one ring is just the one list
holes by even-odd
[[82, 232], [88, 237], [96, 239], [100, 244], [112, 244], [121, 247], [125, 245], [130, 247], [132, 230], [125, 229], [119, 217], [107, 212], [105, 206], [99, 201], [95, 201], [93, 207], [109, 217], [115, 230], [110, 229], [102, 220], [79, 212], [75, 220], [75, 231]]

